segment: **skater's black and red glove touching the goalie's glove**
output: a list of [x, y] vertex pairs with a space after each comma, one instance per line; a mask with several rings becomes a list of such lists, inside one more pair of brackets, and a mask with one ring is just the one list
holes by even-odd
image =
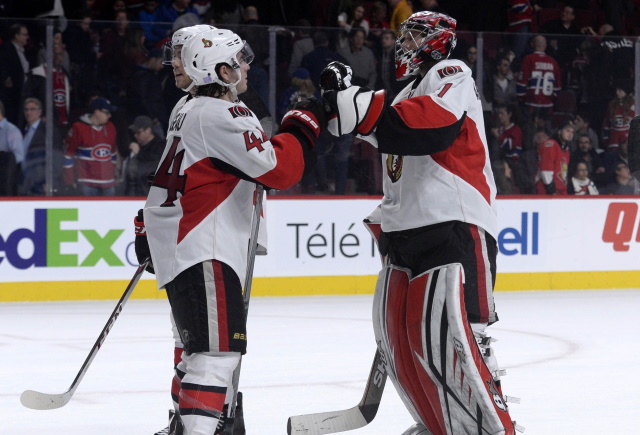
[[309, 142], [309, 145], [315, 147], [315, 142], [320, 132], [327, 126], [324, 109], [320, 102], [315, 98], [309, 98], [293, 103], [289, 106], [280, 123], [280, 133], [302, 133]]

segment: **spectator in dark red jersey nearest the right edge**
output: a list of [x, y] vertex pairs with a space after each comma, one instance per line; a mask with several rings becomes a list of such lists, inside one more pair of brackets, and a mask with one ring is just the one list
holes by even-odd
[[617, 148], [623, 137], [629, 134], [629, 123], [636, 114], [631, 80], [620, 80], [616, 96], [609, 102], [602, 124], [602, 142], [607, 149]]

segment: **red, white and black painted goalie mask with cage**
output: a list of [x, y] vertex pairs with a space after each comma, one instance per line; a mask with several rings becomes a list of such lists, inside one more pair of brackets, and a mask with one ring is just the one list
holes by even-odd
[[449, 57], [456, 46], [456, 20], [437, 12], [416, 12], [407, 18], [396, 39], [396, 79], [420, 71], [425, 60]]

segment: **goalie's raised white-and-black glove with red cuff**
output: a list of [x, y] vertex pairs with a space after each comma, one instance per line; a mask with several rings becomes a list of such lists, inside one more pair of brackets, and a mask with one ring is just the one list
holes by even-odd
[[351, 68], [331, 62], [320, 74], [329, 133], [334, 136], [373, 132], [385, 107], [386, 92], [351, 86]]

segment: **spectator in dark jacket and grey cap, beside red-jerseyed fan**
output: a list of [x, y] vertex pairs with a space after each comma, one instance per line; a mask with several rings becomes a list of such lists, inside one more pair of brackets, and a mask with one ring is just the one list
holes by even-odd
[[129, 157], [123, 163], [125, 191], [127, 196], [149, 194], [149, 179], [160, 162], [164, 150], [164, 140], [153, 132], [154, 124], [145, 115], [136, 116], [129, 131], [134, 139], [129, 144]]

